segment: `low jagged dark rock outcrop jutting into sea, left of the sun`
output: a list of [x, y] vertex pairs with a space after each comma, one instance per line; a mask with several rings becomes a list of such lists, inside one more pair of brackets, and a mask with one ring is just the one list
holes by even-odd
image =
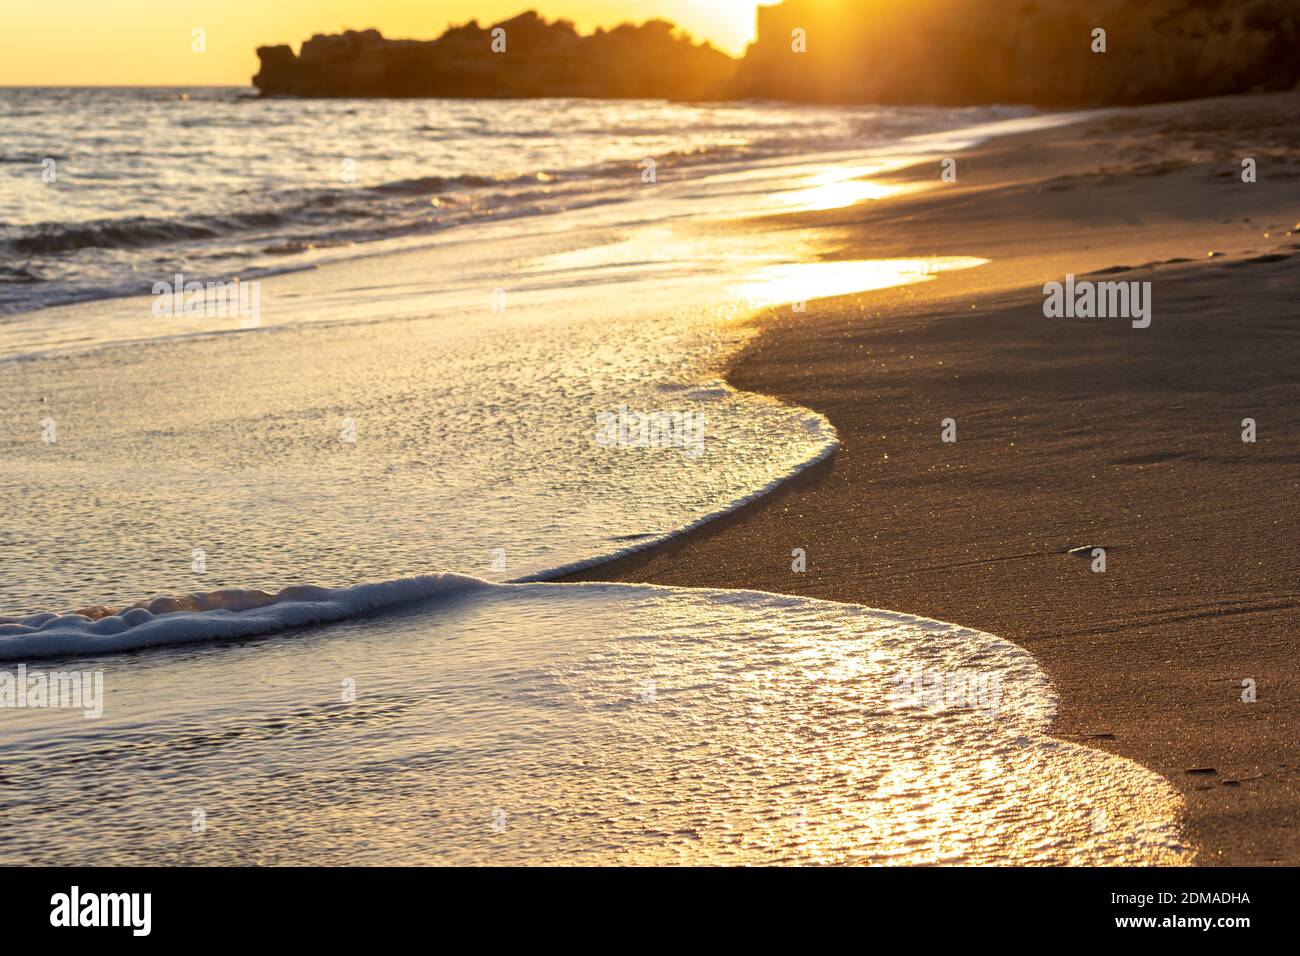
[[[504, 52], [494, 52], [497, 29]], [[581, 36], [572, 23], [536, 13], [488, 27], [469, 22], [436, 40], [317, 34], [298, 56], [287, 46], [260, 47], [257, 56], [252, 82], [263, 95], [292, 96], [710, 99], [736, 70], [729, 56], [662, 20]]]

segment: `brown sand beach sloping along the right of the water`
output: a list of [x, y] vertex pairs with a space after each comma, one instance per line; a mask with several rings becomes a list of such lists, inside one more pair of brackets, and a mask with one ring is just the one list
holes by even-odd
[[[758, 316], [729, 381], [824, 412], [840, 450], [573, 579], [991, 631], [1046, 670], [1057, 736], [1182, 790], [1200, 864], [1300, 862], [1297, 114], [1286, 94], [1093, 116], [962, 153], [956, 183], [926, 164], [897, 177], [920, 193], [750, 224], [844, 259], [992, 261]], [[1066, 273], [1152, 282], [1150, 328], [1044, 317]], [[1067, 553], [1092, 546], [1104, 572]]]

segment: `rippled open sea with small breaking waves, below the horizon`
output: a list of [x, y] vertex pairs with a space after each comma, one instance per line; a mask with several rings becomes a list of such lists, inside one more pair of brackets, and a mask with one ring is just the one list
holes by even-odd
[[0, 316], [614, 202], [646, 159], [671, 179], [1026, 112], [5, 88]]

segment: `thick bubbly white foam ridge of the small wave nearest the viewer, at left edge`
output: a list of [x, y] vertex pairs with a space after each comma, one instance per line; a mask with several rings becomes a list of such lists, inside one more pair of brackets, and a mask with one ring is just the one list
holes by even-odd
[[116, 610], [90, 607], [77, 614], [0, 618], [0, 661], [256, 637], [485, 587], [489, 583], [477, 578], [436, 574], [350, 588], [295, 585], [274, 594], [231, 588], [157, 597]]

